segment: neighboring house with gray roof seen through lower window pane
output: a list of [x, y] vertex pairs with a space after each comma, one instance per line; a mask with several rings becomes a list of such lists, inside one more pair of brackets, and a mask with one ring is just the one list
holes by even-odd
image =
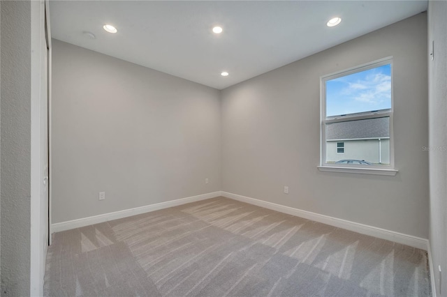
[[346, 159], [390, 164], [390, 118], [326, 125], [327, 162]]

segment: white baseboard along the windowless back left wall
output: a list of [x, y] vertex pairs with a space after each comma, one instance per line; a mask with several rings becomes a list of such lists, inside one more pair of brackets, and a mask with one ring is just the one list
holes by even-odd
[[89, 226], [91, 224], [108, 222], [110, 220], [126, 218], [126, 217], [130, 217], [132, 215], [140, 215], [141, 213], [149, 213], [151, 211], [158, 211], [163, 208], [179, 206], [182, 204], [187, 204], [187, 203], [210, 199], [210, 198], [219, 197], [219, 196], [221, 196], [220, 191], [207, 193], [207, 194], [203, 194], [203, 195], [192, 196], [192, 197], [186, 197], [186, 198], [182, 198], [182, 199], [166, 201], [166, 202], [161, 202], [161, 203], [157, 203], [157, 204], [150, 204], [150, 205], [146, 205], [146, 206], [125, 209], [124, 211], [115, 211], [113, 213], [104, 213], [102, 215], [94, 215], [94, 216], [91, 216], [88, 218], [81, 218], [81, 219], [77, 219], [77, 220], [59, 222], [59, 223], [52, 224], [52, 231], [60, 232], [60, 231], [85, 227], [85, 226]]

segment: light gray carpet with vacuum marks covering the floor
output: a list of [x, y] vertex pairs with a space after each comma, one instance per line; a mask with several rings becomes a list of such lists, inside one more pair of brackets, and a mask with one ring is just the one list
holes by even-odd
[[54, 234], [45, 296], [430, 296], [427, 253], [218, 197]]

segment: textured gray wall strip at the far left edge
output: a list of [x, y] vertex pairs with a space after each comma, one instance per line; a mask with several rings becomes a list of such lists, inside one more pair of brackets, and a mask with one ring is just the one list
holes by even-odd
[[1, 296], [29, 295], [31, 3], [1, 1]]

